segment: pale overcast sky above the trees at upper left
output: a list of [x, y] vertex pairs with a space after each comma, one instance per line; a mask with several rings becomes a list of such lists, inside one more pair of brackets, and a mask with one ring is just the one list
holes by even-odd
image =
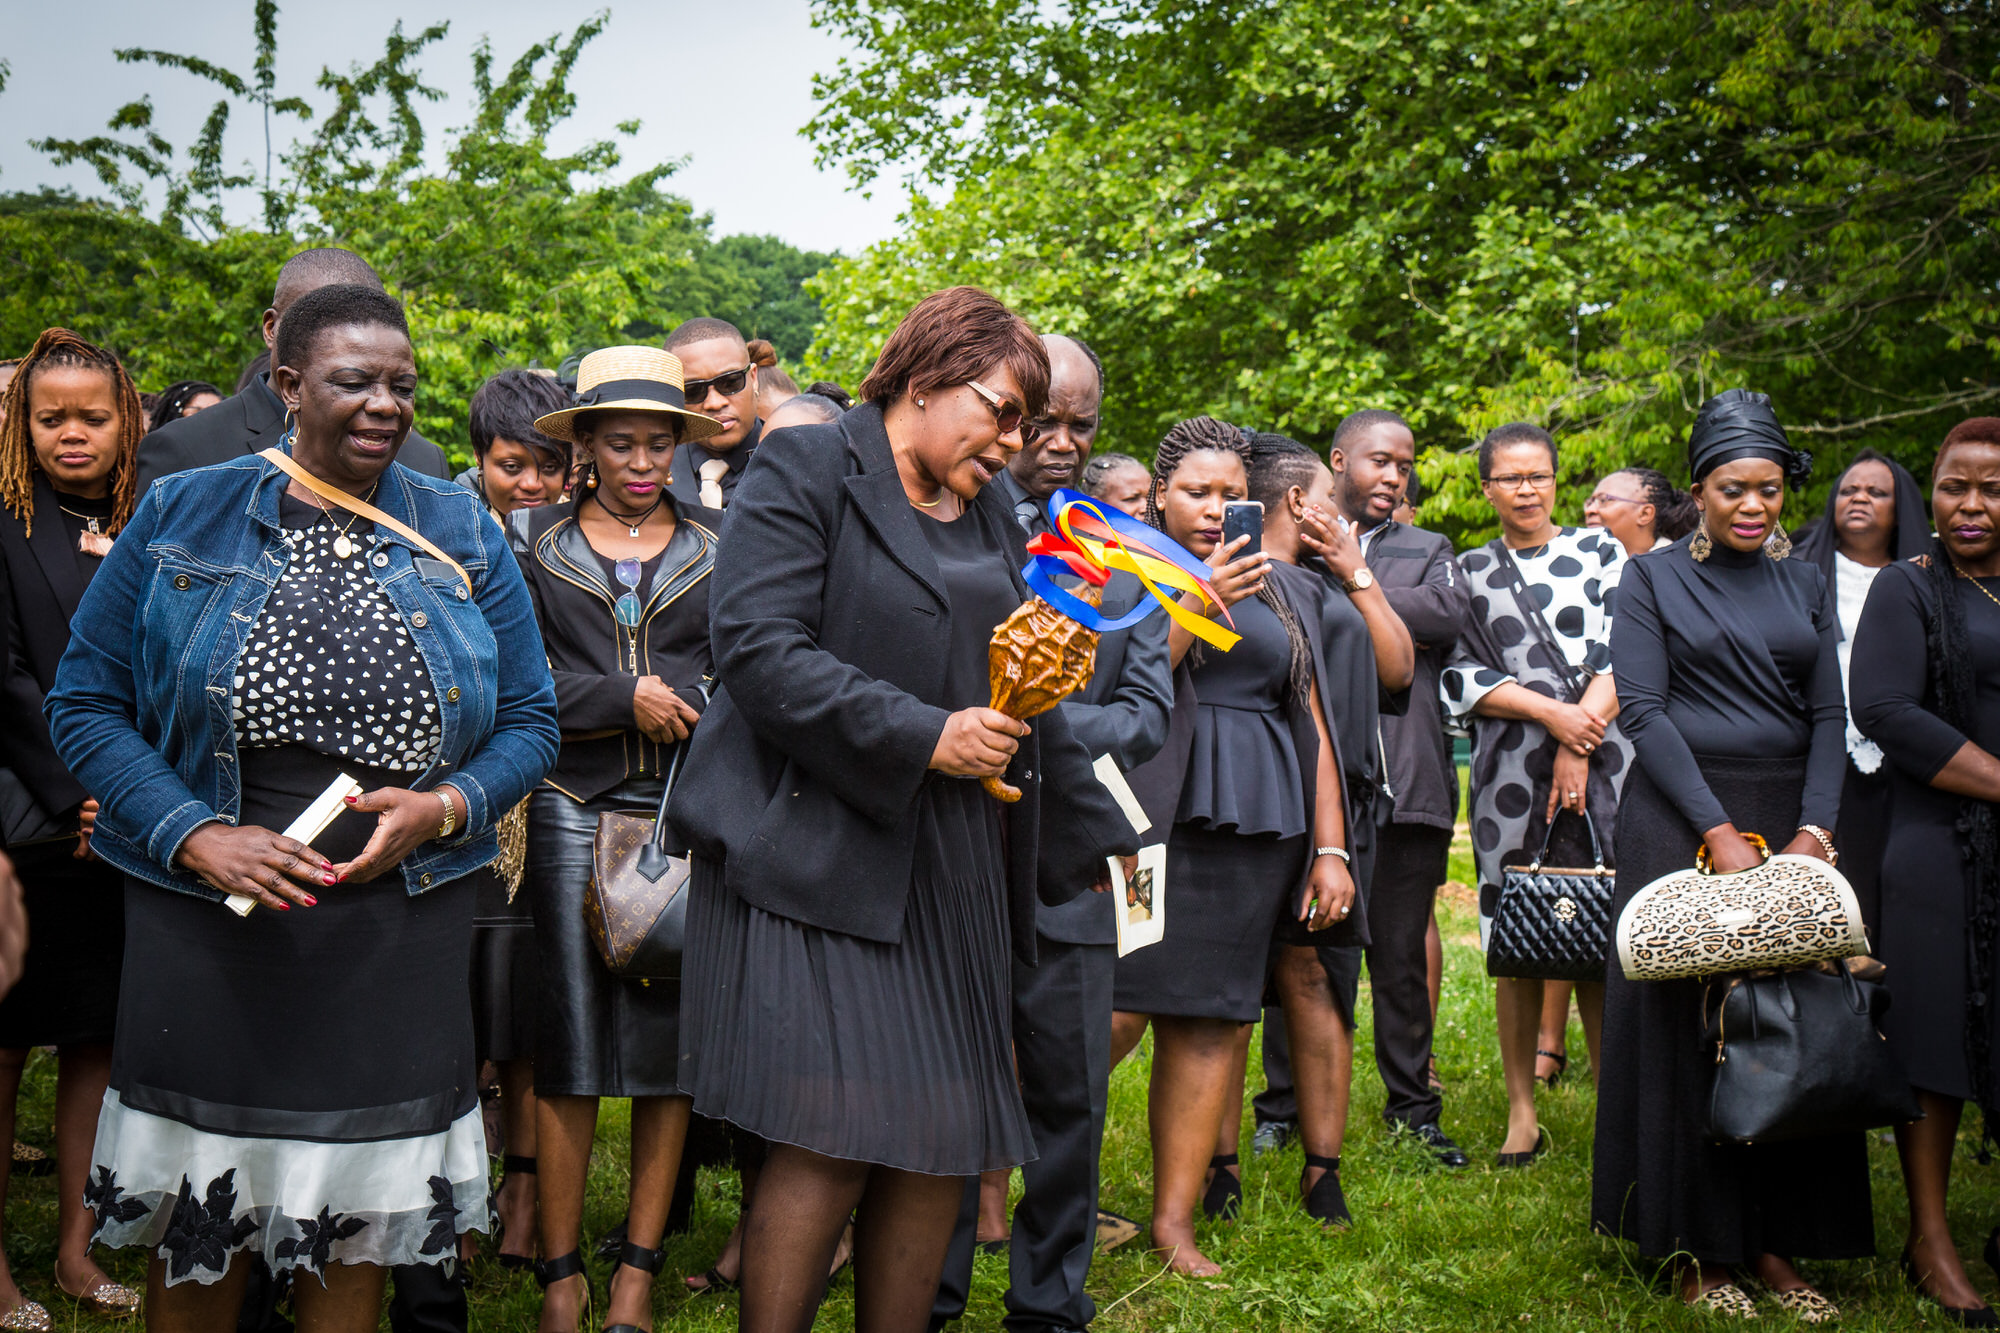
[[[220, 90], [178, 70], [128, 66], [112, 48], [142, 46], [202, 56], [244, 76], [254, 40], [252, 0], [6, 0], [0, 58], [12, 66], [0, 92], [0, 190], [68, 184], [100, 192], [86, 168], [58, 170], [30, 138], [104, 132], [118, 106], [152, 94], [154, 124], [184, 150]], [[426, 128], [464, 124], [472, 96], [472, 46], [492, 38], [504, 70], [530, 44], [568, 34], [596, 4], [522, 0], [290, 0], [278, 10], [278, 94], [324, 110], [312, 86], [322, 66], [372, 62], [400, 18], [404, 32], [450, 20], [450, 34], [422, 56], [424, 82], [446, 102], [426, 110]], [[812, 28], [806, 0], [618, 0], [610, 26], [578, 62], [570, 88], [576, 114], [556, 148], [610, 138], [620, 120], [644, 122], [626, 140], [626, 168], [688, 158], [668, 188], [714, 214], [714, 234], [768, 232], [808, 250], [854, 252], [896, 230], [900, 190], [874, 198], [846, 188], [846, 174], [820, 172], [798, 130], [812, 116], [812, 76], [830, 72], [842, 42]], [[294, 120], [282, 122], [294, 126]], [[228, 158], [262, 164], [264, 138], [242, 106], [230, 116]], [[880, 182], [878, 182], [880, 184]], [[250, 220], [254, 196], [234, 210]]]

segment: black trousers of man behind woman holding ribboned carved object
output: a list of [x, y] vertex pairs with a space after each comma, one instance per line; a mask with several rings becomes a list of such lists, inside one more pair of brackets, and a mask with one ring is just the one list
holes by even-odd
[[[1008, 1251], [1006, 1327], [1084, 1329], [1098, 1307], [1084, 1291], [1098, 1241], [1098, 1149], [1112, 1081], [1114, 945], [1036, 941], [1040, 967], [1014, 963], [1014, 1061], [1036, 1159], [1020, 1169]], [[966, 1179], [944, 1257], [932, 1327], [966, 1313], [980, 1179]]]

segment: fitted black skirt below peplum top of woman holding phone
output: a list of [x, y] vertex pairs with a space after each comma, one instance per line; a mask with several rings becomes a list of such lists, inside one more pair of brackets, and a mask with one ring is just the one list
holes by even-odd
[[1296, 911], [1306, 837], [1244, 837], [1174, 825], [1166, 935], [1118, 959], [1126, 1013], [1256, 1023], [1278, 921]]

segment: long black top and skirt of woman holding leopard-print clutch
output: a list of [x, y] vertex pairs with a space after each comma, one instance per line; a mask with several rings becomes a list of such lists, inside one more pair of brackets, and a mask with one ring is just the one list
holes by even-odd
[[[1734, 823], [1774, 849], [1836, 827], [1846, 711], [1834, 608], [1800, 560], [1686, 544], [1638, 556], [1618, 588], [1618, 725], [1638, 757], [1618, 811], [1618, 901], [1694, 865], [1704, 829]], [[1874, 1253], [1862, 1135], [1718, 1145], [1702, 1103], [1700, 981], [1626, 981], [1606, 967], [1594, 1227], [1642, 1255], [1746, 1263], [1762, 1253]]]

